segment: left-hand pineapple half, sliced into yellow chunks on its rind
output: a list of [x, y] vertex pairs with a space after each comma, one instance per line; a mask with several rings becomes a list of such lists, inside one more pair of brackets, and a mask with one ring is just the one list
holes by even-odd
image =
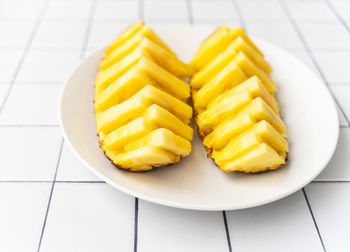
[[100, 147], [124, 170], [147, 171], [191, 152], [191, 68], [143, 22], [105, 50], [95, 81]]

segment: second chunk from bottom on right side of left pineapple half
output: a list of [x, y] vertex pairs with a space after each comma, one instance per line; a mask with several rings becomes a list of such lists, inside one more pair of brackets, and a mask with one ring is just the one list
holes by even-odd
[[179, 118], [168, 110], [153, 104], [145, 112], [145, 117], [154, 122], [155, 128], [166, 128], [187, 140], [192, 140], [193, 129], [183, 123]]

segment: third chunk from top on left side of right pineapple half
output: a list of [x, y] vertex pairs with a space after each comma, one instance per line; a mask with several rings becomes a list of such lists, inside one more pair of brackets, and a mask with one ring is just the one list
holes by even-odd
[[245, 74], [237, 67], [236, 63], [232, 61], [194, 94], [194, 106], [205, 108], [215, 97], [227, 89], [237, 86], [244, 80], [246, 80]]

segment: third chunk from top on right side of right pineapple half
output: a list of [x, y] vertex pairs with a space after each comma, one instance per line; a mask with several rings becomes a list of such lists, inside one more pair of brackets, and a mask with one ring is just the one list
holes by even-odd
[[256, 66], [243, 52], [237, 54], [235, 62], [248, 77], [257, 75], [270, 93], [277, 90], [275, 82], [271, 80], [263, 70]]

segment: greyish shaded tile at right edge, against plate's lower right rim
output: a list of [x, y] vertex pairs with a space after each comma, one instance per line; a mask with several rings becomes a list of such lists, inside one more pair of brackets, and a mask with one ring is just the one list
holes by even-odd
[[340, 128], [337, 149], [325, 170], [315, 179], [350, 181], [350, 128]]

